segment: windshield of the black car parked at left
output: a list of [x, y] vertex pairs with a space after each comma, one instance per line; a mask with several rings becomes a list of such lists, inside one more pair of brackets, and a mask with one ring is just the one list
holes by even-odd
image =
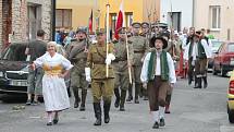
[[24, 53], [26, 49], [26, 44], [11, 44], [3, 53], [3, 60], [10, 61], [26, 61], [27, 56]]

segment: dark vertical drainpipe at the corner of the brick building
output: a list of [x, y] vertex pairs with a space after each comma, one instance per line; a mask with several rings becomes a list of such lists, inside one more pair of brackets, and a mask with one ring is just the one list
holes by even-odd
[[52, 40], [54, 41], [56, 40], [56, 7], [57, 7], [57, 2], [56, 0], [51, 0], [51, 35], [52, 35]]

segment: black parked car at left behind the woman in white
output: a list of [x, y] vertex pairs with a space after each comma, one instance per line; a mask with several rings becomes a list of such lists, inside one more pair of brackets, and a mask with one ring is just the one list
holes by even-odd
[[[26, 94], [29, 58], [25, 55], [27, 43], [11, 44], [0, 59], [0, 93]], [[57, 51], [65, 56], [62, 46]], [[70, 87], [70, 75], [65, 77], [67, 89]]]

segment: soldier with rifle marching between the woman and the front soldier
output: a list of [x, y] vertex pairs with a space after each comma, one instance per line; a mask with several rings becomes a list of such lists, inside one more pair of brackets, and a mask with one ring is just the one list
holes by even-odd
[[82, 88], [82, 104], [79, 107], [81, 111], [85, 110], [85, 100], [87, 95], [88, 83], [85, 80], [85, 64], [87, 60], [87, 48], [88, 43], [86, 39], [86, 31], [78, 28], [76, 32], [76, 41], [73, 41], [67, 47], [69, 60], [74, 65], [71, 71], [71, 87], [75, 96], [74, 108], [78, 108], [81, 98], [78, 89]]

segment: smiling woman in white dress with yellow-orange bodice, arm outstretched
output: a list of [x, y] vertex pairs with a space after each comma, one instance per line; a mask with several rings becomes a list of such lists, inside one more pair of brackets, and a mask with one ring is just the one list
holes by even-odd
[[41, 67], [45, 71], [42, 77], [42, 95], [48, 113], [47, 125], [52, 125], [52, 123], [57, 124], [59, 121], [59, 111], [70, 107], [64, 76], [73, 65], [62, 55], [57, 53], [56, 45], [54, 41], [48, 43], [47, 52], [36, 59], [30, 65], [32, 69]]

